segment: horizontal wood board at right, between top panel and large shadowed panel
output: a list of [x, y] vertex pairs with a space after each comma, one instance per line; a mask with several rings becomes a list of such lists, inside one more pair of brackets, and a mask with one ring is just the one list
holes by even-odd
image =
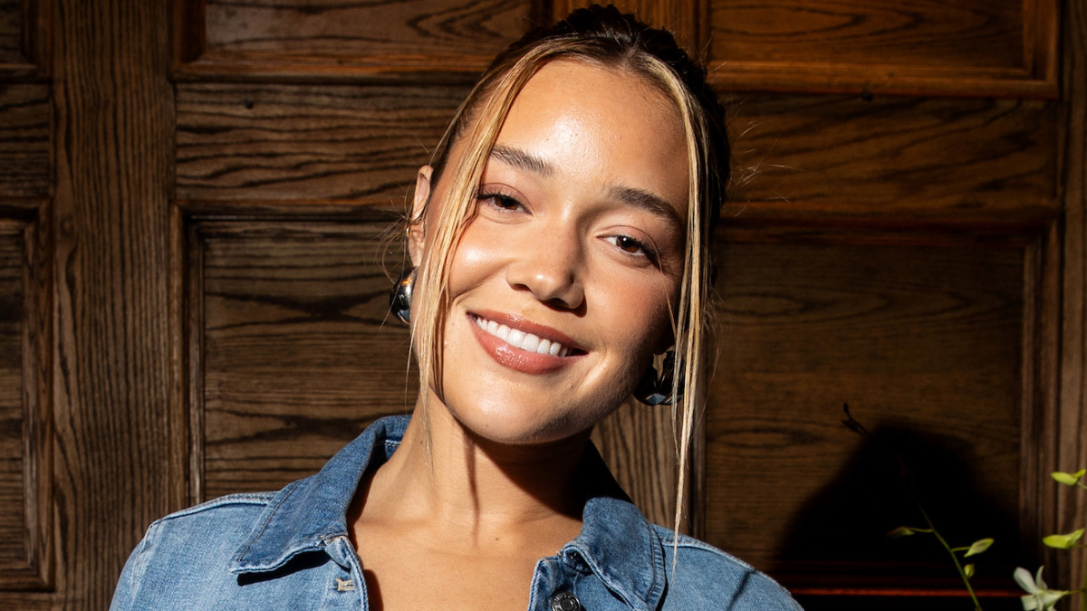
[[1052, 104], [737, 96], [725, 219], [1052, 219]]

